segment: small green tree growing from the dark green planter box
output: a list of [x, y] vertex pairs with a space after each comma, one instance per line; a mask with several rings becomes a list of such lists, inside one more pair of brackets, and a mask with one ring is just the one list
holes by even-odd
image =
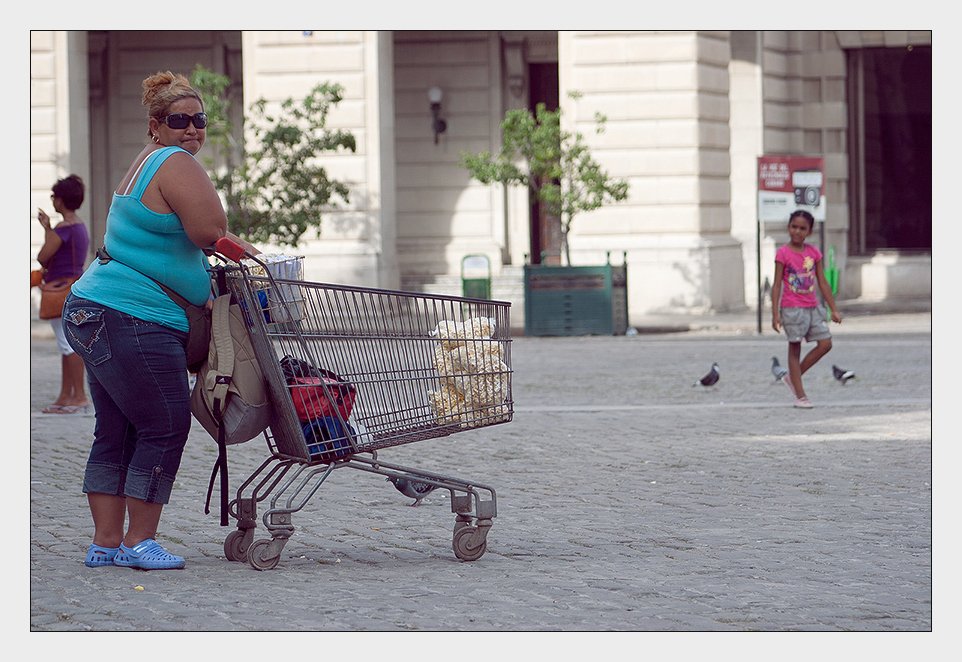
[[[577, 95], [575, 95], [577, 96]], [[606, 119], [595, 115], [596, 132]], [[561, 250], [571, 264], [568, 233], [576, 216], [628, 197], [628, 182], [610, 177], [591, 156], [584, 136], [561, 129], [561, 109], [539, 103], [535, 112], [508, 110], [501, 122], [501, 150], [464, 153], [461, 163], [485, 184], [527, 186], [561, 224]], [[523, 162], [521, 166], [518, 162]]]

